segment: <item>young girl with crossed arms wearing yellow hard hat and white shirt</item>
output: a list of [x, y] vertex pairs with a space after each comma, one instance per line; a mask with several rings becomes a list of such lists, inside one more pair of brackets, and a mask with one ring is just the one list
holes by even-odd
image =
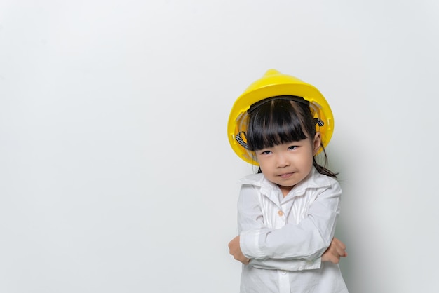
[[332, 131], [325, 97], [273, 69], [236, 100], [229, 142], [259, 165], [241, 179], [239, 235], [229, 243], [243, 263], [241, 292], [347, 292], [338, 266], [346, 247], [334, 238], [342, 190], [315, 158]]

